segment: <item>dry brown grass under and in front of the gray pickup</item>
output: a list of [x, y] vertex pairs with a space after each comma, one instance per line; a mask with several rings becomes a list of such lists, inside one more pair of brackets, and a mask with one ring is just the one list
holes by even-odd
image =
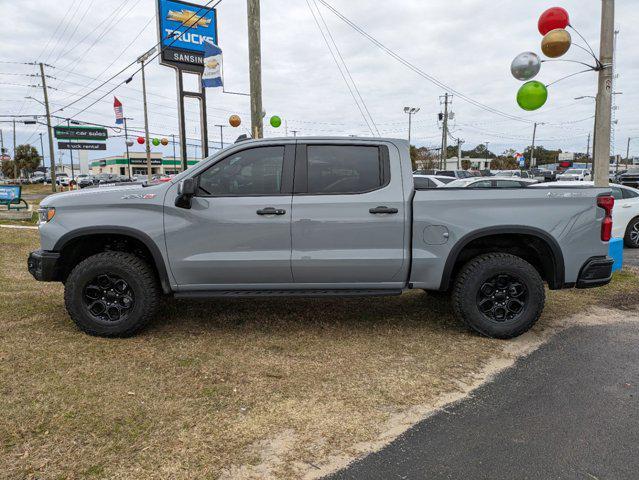
[[[171, 302], [135, 338], [94, 338], [60, 285], [31, 279], [34, 248], [37, 232], [0, 229], [0, 477], [316, 476], [465, 394], [525, 341], [474, 335], [422, 292]], [[635, 285], [622, 274], [551, 292], [529, 335]]]

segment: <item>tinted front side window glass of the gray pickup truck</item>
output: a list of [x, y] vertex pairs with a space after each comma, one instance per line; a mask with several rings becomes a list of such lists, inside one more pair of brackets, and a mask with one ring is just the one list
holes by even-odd
[[219, 161], [200, 175], [203, 195], [278, 195], [282, 186], [284, 147], [243, 150]]

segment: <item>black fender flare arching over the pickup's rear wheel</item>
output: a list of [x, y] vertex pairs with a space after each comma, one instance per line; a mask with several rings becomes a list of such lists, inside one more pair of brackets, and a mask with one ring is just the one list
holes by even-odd
[[553, 275], [552, 278], [548, 279], [548, 285], [552, 290], [557, 290], [564, 287], [564, 277], [565, 277], [565, 264], [564, 264], [564, 254], [557, 243], [557, 240], [554, 239], [549, 233], [541, 230], [536, 227], [527, 227], [522, 225], [512, 225], [512, 226], [500, 226], [500, 227], [487, 227], [480, 228], [479, 230], [474, 230], [470, 233], [464, 235], [459, 241], [453, 246], [448, 257], [446, 258], [446, 263], [444, 265], [444, 271], [442, 273], [442, 281], [439, 286], [440, 290], [448, 290], [450, 287], [450, 281], [453, 274], [453, 269], [455, 267], [455, 263], [457, 262], [457, 258], [461, 251], [473, 240], [477, 240], [482, 237], [489, 237], [494, 235], [530, 235], [532, 237], [536, 237], [539, 240], [543, 241], [546, 245], [548, 245], [550, 252], [552, 254], [552, 262], [553, 262]]

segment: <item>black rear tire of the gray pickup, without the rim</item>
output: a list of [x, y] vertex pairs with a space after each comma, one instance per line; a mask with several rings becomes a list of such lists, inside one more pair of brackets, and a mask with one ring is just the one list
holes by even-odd
[[[482, 288], [501, 275], [517, 279], [526, 291], [526, 301], [512, 319], [489, 318], [479, 307]], [[492, 338], [508, 339], [529, 330], [544, 309], [546, 292], [535, 268], [525, 260], [507, 253], [488, 253], [470, 260], [461, 269], [452, 292], [455, 316], [476, 332]]]

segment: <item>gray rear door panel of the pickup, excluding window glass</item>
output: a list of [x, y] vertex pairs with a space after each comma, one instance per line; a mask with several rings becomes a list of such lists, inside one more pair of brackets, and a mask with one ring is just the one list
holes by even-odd
[[[342, 148], [349, 148], [343, 146]], [[306, 153], [298, 158], [305, 161]], [[310, 150], [309, 150], [310, 151]], [[308, 154], [310, 158], [313, 153]], [[317, 169], [309, 167], [308, 189], [356, 190], [369, 186], [371, 172], [355, 176], [351, 170], [361, 169], [363, 164], [349, 158], [349, 153], [337, 151], [319, 152], [326, 161], [335, 161], [339, 168]], [[336, 158], [337, 155], [337, 158]], [[354, 154], [357, 156], [358, 152]], [[386, 150], [388, 155], [388, 150]], [[344, 288], [363, 284], [403, 284], [404, 228], [407, 212], [401, 181], [399, 156], [386, 161], [385, 186], [365, 193], [353, 194], [302, 194], [293, 197], [291, 233], [293, 241], [293, 278], [297, 284], [331, 284]], [[296, 191], [298, 174], [305, 168], [296, 167]], [[306, 173], [306, 172], [304, 172]], [[314, 175], [315, 178], [311, 179]], [[340, 178], [341, 176], [341, 178]], [[346, 178], [348, 177], [348, 178]], [[309, 190], [307, 190], [309, 191]], [[377, 207], [387, 207], [389, 212], [372, 213]], [[383, 212], [381, 210], [380, 212]]]

